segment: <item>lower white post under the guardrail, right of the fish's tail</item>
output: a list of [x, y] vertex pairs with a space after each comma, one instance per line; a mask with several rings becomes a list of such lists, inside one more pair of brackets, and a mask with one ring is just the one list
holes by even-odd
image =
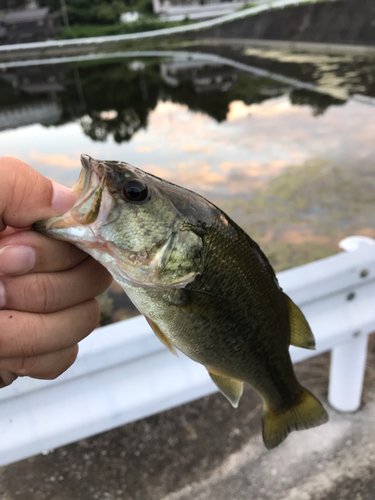
[[368, 335], [358, 333], [332, 349], [328, 402], [338, 411], [353, 412], [361, 405]]

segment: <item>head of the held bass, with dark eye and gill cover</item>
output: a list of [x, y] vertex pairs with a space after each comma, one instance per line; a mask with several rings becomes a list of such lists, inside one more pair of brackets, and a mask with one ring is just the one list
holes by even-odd
[[202, 273], [209, 202], [124, 162], [81, 163], [75, 205], [34, 229], [86, 251], [122, 286], [182, 288]]

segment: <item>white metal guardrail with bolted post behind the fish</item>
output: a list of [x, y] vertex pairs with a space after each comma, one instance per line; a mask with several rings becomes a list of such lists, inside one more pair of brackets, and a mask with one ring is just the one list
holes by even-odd
[[[375, 240], [353, 236], [346, 252], [278, 274], [302, 308], [316, 351], [291, 347], [294, 362], [332, 350], [329, 402], [360, 406], [367, 342], [375, 331]], [[0, 464], [167, 410], [215, 392], [205, 368], [172, 356], [143, 317], [98, 328], [76, 363], [53, 381], [22, 378], [0, 390]]]

